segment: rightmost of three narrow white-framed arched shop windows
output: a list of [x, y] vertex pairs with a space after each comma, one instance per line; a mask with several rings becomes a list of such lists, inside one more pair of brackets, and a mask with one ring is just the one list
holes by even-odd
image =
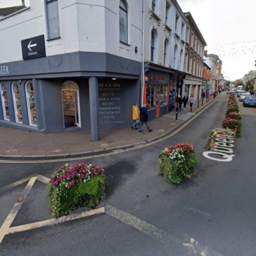
[[28, 109], [28, 122], [30, 125], [37, 126], [36, 116], [36, 94], [32, 81], [27, 81], [25, 85], [27, 109]]

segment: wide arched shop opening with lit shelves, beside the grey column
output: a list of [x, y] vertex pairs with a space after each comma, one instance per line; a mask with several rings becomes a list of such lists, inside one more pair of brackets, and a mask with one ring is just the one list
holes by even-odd
[[81, 127], [78, 85], [73, 81], [66, 81], [61, 87], [61, 94], [65, 128]]

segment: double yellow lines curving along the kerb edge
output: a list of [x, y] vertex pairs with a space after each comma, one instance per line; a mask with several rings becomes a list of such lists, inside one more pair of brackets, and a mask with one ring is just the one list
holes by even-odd
[[[220, 97], [217, 100], [219, 100], [219, 99], [220, 99]], [[54, 162], [70, 162], [70, 161], [98, 158], [98, 157], [103, 157], [103, 156], [111, 156], [111, 155], [116, 155], [116, 154], [120, 154], [120, 153], [125, 153], [125, 152], [128, 152], [128, 151], [133, 151], [133, 150], [136, 150], [136, 149], [141, 149], [143, 147], [148, 147], [149, 145], [157, 144], [158, 142], [162, 142], [163, 140], [166, 140], [167, 138], [173, 137], [176, 133], [179, 133], [182, 129], [184, 129], [187, 125], [189, 125], [189, 123], [193, 122], [193, 120], [195, 120], [197, 118], [198, 114], [200, 114], [201, 112], [204, 112], [206, 109], [208, 109], [208, 107], [210, 107], [215, 101], [212, 101], [211, 103], [209, 103], [209, 105], [204, 107], [204, 109], [199, 110], [197, 112], [197, 114], [195, 116], [193, 116], [193, 118], [191, 118], [186, 123], [184, 123], [184, 125], [182, 125], [180, 128], [178, 128], [175, 132], [165, 136], [164, 138], [160, 138], [158, 140], [155, 140], [154, 142], [149, 142], [147, 144], [134, 146], [134, 147], [131, 147], [129, 149], [120, 149], [120, 150], [117, 150], [117, 151], [112, 151], [110, 153], [104, 153], [104, 154], [93, 155], [93, 156], [61, 158], [61, 159], [54, 159], [54, 160], [24, 160], [24, 161], [20, 161], [20, 160], [17, 160], [17, 161], [15, 161], [15, 160], [0, 160], [0, 163], [2, 163], [2, 164], [42, 164], [42, 163], [54, 163]]]

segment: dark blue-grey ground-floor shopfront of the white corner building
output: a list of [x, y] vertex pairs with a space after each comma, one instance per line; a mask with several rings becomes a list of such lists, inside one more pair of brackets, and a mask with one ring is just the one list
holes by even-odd
[[99, 134], [103, 127], [130, 125], [140, 73], [140, 62], [102, 52], [30, 54], [0, 63], [0, 126]]

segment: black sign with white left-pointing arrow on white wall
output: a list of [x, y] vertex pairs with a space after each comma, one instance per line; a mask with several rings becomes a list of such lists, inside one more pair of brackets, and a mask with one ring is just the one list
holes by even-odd
[[21, 41], [23, 59], [45, 57], [45, 36], [36, 36]]

